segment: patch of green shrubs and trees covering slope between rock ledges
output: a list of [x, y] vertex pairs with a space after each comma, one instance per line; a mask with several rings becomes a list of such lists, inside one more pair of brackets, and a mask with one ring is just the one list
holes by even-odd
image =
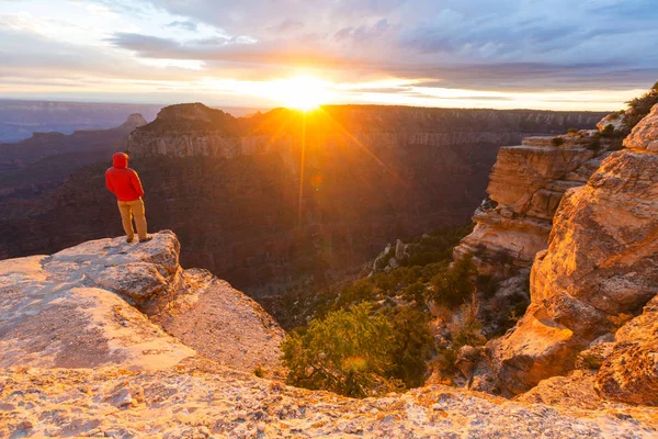
[[[288, 383], [365, 397], [423, 385], [433, 371], [456, 373], [460, 348], [487, 341], [479, 297], [495, 290], [472, 257], [451, 263], [472, 228], [443, 227], [412, 239], [395, 269], [389, 247], [371, 275], [316, 296], [314, 318], [282, 344]], [[451, 323], [445, 342], [432, 334], [433, 316]]]

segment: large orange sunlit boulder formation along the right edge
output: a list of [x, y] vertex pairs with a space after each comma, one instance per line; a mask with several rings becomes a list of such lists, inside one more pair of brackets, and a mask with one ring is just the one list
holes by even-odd
[[[635, 126], [627, 149], [606, 158], [587, 185], [566, 192], [548, 249], [533, 264], [532, 304], [491, 347], [499, 379], [512, 393], [572, 369], [592, 340], [657, 294], [658, 154], [642, 147], [654, 142], [656, 117], [654, 111]], [[656, 363], [650, 347], [622, 346], [597, 382], [603, 393], [633, 401], [638, 382], [655, 389]]]

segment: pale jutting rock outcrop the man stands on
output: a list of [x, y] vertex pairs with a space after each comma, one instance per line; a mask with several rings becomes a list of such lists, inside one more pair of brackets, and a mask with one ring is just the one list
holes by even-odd
[[183, 271], [179, 251], [162, 232], [146, 244], [100, 239], [0, 261], [0, 367], [151, 370], [197, 352], [242, 369], [275, 364], [277, 325], [228, 284]]

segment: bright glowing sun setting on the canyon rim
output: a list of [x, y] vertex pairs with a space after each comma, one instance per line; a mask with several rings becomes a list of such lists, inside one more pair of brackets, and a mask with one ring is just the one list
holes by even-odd
[[275, 88], [284, 106], [304, 112], [318, 109], [330, 98], [329, 83], [309, 76], [282, 79]]

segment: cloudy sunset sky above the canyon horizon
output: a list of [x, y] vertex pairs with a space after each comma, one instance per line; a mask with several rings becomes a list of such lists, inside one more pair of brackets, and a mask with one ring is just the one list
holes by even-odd
[[0, 0], [0, 98], [619, 110], [655, 0]]

